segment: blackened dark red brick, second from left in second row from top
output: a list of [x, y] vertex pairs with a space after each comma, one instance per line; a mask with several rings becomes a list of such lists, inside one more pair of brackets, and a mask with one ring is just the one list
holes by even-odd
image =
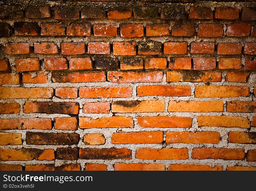
[[14, 22], [13, 25], [15, 35], [38, 36], [39, 27], [35, 22]]

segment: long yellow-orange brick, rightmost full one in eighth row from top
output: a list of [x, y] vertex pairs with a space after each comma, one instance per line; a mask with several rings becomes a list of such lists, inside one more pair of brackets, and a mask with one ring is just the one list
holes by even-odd
[[250, 121], [244, 117], [198, 116], [198, 126], [250, 128]]

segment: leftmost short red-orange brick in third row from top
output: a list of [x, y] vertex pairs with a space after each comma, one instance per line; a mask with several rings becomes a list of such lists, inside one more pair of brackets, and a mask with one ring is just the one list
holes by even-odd
[[32, 52], [27, 42], [12, 42], [6, 44], [7, 54], [29, 54]]

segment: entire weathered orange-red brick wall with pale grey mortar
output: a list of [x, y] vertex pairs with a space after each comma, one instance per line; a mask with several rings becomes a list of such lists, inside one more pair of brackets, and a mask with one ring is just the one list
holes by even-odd
[[0, 169], [256, 170], [255, 7], [1, 2]]

